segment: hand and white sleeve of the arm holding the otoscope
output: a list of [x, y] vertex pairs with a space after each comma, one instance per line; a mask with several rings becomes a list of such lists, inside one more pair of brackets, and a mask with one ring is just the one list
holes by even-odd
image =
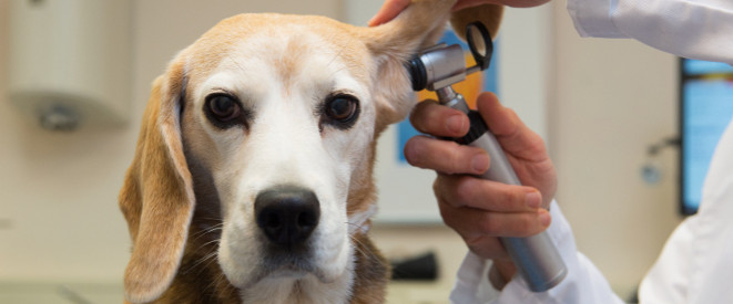
[[[570, 226], [552, 200], [557, 176], [544, 143], [496, 95], [481, 94], [478, 109], [508, 154], [523, 186], [502, 185], [466, 176], [486, 169], [486, 155], [472, 147], [425, 136], [411, 138], [405, 147], [407, 160], [421, 168], [438, 171], [434, 185], [444, 221], [466, 241], [470, 253], [459, 270], [454, 303], [622, 303], [603, 275], [577, 252]], [[413, 125], [434, 136], [462, 136], [468, 119], [462, 113], [435, 102], [418, 104], [410, 115]], [[490, 163], [490, 160], [489, 160]], [[536, 196], [536, 195], [539, 195]], [[541, 198], [541, 199], [540, 199]], [[551, 205], [552, 238], [568, 266], [568, 276], [558, 286], [532, 293], [515, 270], [496, 237], [522, 237], [542, 231], [547, 224], [543, 206]], [[492, 261], [488, 262], [489, 260]], [[491, 284], [487, 282], [490, 264]], [[508, 282], [508, 283], [507, 283]], [[501, 290], [487, 293], [490, 286]]]

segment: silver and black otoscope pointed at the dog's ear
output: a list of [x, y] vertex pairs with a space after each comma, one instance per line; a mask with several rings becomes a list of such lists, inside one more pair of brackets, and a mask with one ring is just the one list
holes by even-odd
[[[445, 43], [434, 45], [417, 54], [406, 64], [413, 81], [413, 90], [435, 91], [441, 105], [459, 109], [468, 115], [470, 119], [468, 134], [462, 138], [450, 139], [461, 145], [479, 147], [489, 154], [491, 166], [488, 171], [479, 176], [480, 178], [521, 185], [481, 115], [469, 109], [464, 96], [451, 87], [452, 84], [466, 80], [466, 75], [488, 69], [491, 61], [493, 43], [481, 22], [468, 24], [466, 40], [476, 60], [475, 66], [466, 67], [464, 50], [460, 45]], [[500, 240], [533, 292], [543, 292], [553, 287], [568, 273], [560, 253], [546, 232], [528, 238], [501, 238]]]

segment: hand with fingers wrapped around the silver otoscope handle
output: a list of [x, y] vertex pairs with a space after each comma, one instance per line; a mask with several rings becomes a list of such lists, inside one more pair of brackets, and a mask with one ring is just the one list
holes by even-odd
[[[413, 166], [438, 172], [434, 191], [444, 222], [474, 253], [493, 260], [496, 270], [509, 281], [516, 268], [498, 237], [529, 237], [549, 226], [550, 214], [541, 206], [549, 206], [554, 197], [557, 174], [542, 138], [496, 95], [482, 93], [477, 106], [523, 186], [472, 177], [490, 166], [488, 155], [477, 147], [416, 136], [407, 141], [405, 157]], [[419, 103], [410, 122], [438, 137], [460, 137], [469, 127], [465, 114], [434, 101]]]

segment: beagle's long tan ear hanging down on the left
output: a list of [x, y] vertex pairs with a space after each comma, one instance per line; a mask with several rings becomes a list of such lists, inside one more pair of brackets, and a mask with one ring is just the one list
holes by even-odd
[[146, 303], [167, 290], [181, 263], [194, 209], [181, 141], [182, 61], [155, 80], [119, 201], [132, 237], [124, 274], [128, 301]]

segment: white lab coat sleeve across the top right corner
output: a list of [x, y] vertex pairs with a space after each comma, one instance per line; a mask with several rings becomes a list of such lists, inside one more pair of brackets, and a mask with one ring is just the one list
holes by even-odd
[[568, 0], [568, 12], [582, 36], [631, 38], [679, 56], [733, 64], [730, 0]]

